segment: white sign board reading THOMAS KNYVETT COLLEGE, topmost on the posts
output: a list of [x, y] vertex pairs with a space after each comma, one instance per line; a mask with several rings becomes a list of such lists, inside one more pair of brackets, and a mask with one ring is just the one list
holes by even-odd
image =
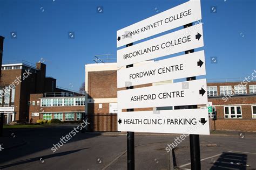
[[117, 47], [201, 19], [200, 1], [188, 1], [117, 31]]

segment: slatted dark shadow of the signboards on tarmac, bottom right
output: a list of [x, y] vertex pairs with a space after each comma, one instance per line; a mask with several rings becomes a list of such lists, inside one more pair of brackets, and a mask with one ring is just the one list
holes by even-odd
[[247, 154], [223, 152], [213, 164], [211, 170], [215, 169], [246, 169]]

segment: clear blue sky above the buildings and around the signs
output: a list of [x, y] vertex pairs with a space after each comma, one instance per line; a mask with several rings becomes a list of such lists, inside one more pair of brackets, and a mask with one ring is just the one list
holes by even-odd
[[[116, 54], [117, 30], [184, 2], [0, 0], [3, 62], [35, 63], [43, 58], [46, 75], [55, 77], [57, 86], [78, 90], [85, 80], [84, 65], [93, 63], [94, 55]], [[97, 13], [98, 6], [103, 6], [103, 13]], [[212, 6], [216, 13], [211, 12]], [[251, 75], [256, 69], [256, 1], [201, 0], [201, 11], [205, 77]], [[11, 38], [11, 32], [17, 33], [16, 39]], [[68, 32], [75, 32], [75, 38], [70, 39]], [[217, 63], [211, 63], [211, 57], [217, 57]]]

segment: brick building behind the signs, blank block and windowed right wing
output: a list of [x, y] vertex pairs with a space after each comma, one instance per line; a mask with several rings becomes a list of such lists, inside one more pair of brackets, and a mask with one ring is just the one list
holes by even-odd
[[[143, 63], [137, 63], [136, 65], [139, 64]], [[87, 94], [85, 97], [86, 112], [88, 114], [118, 112], [117, 90], [123, 90], [125, 88], [117, 88], [117, 69], [116, 63], [85, 65], [85, 91]], [[134, 86], [134, 88], [156, 86], [158, 84], [172, 82], [144, 84], [142, 86]], [[213, 104], [213, 113], [209, 115], [211, 118], [211, 130], [256, 131], [256, 82], [247, 82], [246, 86], [238, 87], [240, 83], [207, 82], [208, 102], [212, 102]], [[232, 91], [234, 95], [228, 97], [227, 95], [232, 94]], [[206, 105], [198, 105], [198, 108], [204, 107]], [[134, 111], [187, 108], [170, 105], [170, 107], [142, 108], [134, 109]], [[217, 119], [215, 120], [215, 118]]]

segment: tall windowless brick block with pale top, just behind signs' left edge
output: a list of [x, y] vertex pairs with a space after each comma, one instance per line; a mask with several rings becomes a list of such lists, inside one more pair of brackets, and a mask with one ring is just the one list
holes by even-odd
[[[134, 66], [143, 65], [148, 62], [136, 63]], [[117, 88], [117, 63], [94, 63], [85, 65], [85, 112], [94, 113], [117, 113], [117, 91], [125, 88]], [[172, 83], [165, 81], [149, 83], [134, 88], [157, 86], [161, 83]], [[134, 109], [134, 111], [152, 110], [153, 108]]]

